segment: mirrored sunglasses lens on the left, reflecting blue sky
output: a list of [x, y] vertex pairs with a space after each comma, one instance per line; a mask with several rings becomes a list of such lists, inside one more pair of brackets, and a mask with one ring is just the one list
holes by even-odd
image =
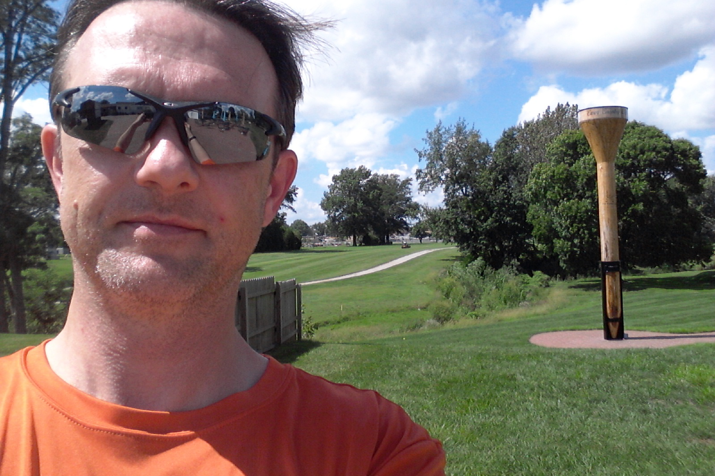
[[126, 88], [85, 86], [66, 97], [62, 128], [70, 136], [124, 153], [137, 153], [156, 109]]

